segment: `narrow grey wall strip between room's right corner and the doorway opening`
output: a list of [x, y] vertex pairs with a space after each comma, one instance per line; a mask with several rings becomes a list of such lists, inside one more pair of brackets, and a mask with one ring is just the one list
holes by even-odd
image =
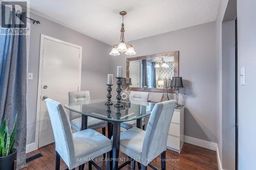
[[222, 163], [222, 20], [227, 8], [228, 0], [220, 1], [216, 18], [216, 60], [217, 60], [217, 131], [220, 132], [217, 140], [220, 161]]

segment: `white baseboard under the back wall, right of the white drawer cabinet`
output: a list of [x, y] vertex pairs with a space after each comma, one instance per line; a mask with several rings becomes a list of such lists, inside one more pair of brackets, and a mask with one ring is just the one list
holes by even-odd
[[184, 136], [184, 142], [197, 145], [199, 147], [203, 147], [212, 151], [216, 151], [217, 149], [217, 143], [209, 142], [202, 139], [197, 139], [190, 136]]

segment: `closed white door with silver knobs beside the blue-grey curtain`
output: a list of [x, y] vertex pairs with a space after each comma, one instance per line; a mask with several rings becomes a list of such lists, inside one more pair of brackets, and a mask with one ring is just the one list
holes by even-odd
[[54, 142], [45, 98], [68, 103], [68, 92], [80, 89], [81, 47], [41, 36], [42, 62], [40, 81], [40, 120], [38, 148]]

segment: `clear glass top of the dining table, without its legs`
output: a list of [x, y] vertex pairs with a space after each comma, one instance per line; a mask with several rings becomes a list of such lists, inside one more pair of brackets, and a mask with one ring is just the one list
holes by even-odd
[[[116, 104], [115, 100], [111, 100]], [[75, 102], [65, 105], [68, 110], [87, 116], [99, 118], [107, 122], [127, 122], [151, 114], [156, 103], [129, 101], [121, 102], [123, 107], [115, 108], [114, 105], [106, 106], [106, 99]]]

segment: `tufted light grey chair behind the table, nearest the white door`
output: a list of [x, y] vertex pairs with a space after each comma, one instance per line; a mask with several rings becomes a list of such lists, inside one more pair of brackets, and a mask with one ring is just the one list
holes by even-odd
[[[90, 91], [70, 91], [69, 92], [69, 103], [81, 102], [90, 100]], [[81, 114], [69, 111], [69, 119], [71, 127], [74, 131], [78, 132], [81, 130]], [[105, 135], [105, 122], [103, 120], [88, 117], [87, 123], [88, 129], [100, 129], [102, 128], [102, 134]]]

